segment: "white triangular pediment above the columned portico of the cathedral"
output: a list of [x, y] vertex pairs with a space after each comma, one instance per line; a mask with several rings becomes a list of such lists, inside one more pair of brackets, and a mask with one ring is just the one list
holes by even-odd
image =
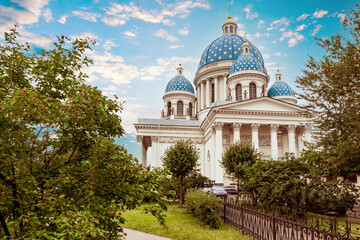
[[216, 106], [217, 110], [262, 111], [262, 112], [303, 112], [299, 106], [270, 97], [249, 99]]

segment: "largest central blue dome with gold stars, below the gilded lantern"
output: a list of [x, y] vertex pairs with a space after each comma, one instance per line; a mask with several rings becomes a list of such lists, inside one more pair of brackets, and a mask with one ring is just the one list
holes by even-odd
[[242, 48], [245, 40], [249, 43], [250, 54], [252, 54], [264, 67], [264, 60], [260, 51], [249, 42], [249, 40], [239, 35], [224, 35], [214, 40], [203, 52], [199, 67], [201, 68], [213, 62], [223, 60], [236, 60], [241, 55]]

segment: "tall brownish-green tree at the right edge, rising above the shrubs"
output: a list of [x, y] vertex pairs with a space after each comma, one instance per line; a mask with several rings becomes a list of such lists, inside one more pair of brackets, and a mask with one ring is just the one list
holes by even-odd
[[327, 174], [351, 175], [360, 172], [359, 5], [343, 25], [348, 34], [316, 39], [325, 55], [320, 60], [310, 57], [296, 82], [320, 131], [318, 146]]

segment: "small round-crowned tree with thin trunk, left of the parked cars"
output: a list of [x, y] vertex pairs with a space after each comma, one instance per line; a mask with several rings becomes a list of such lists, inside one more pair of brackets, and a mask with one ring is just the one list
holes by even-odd
[[174, 145], [166, 149], [162, 161], [173, 177], [180, 179], [180, 208], [183, 200], [183, 180], [197, 166], [200, 153], [196, 146], [190, 140], [179, 140]]

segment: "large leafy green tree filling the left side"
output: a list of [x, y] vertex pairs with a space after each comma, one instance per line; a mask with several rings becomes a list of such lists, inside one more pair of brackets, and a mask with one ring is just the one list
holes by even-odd
[[[85, 83], [94, 42], [61, 36], [34, 53], [18, 36], [0, 45], [0, 238], [121, 239], [121, 212], [146, 194], [162, 209], [167, 200], [114, 142], [121, 103]], [[149, 209], [163, 223], [159, 210]]]

